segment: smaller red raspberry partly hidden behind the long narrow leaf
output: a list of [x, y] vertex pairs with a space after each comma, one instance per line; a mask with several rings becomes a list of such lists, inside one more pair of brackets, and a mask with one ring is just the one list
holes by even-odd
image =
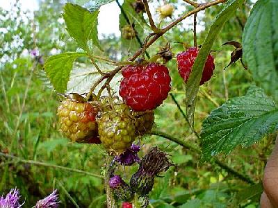
[[[191, 68], [198, 53], [199, 49], [191, 47], [187, 51], [183, 51], [177, 55], [179, 74], [181, 75], [181, 78], [183, 78], [184, 82], [186, 82], [190, 76]], [[211, 79], [214, 68], [214, 58], [211, 54], [209, 54], [208, 58], [206, 59], [206, 64], [204, 66], [203, 75], [199, 85], [204, 85], [206, 81]]]

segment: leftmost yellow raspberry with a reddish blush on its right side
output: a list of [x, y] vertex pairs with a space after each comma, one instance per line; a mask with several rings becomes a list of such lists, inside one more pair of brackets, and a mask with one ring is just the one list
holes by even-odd
[[90, 103], [77, 102], [71, 99], [62, 101], [57, 114], [60, 131], [73, 142], [95, 143], [97, 140], [97, 107]]

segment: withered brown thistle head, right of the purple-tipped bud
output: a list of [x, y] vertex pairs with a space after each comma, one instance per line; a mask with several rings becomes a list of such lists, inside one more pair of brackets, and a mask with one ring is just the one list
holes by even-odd
[[142, 158], [138, 171], [131, 177], [130, 184], [133, 191], [140, 195], [147, 195], [149, 191], [152, 191], [154, 177], [162, 171], [167, 171], [173, 165], [166, 155], [157, 147], [149, 150], [147, 155]]

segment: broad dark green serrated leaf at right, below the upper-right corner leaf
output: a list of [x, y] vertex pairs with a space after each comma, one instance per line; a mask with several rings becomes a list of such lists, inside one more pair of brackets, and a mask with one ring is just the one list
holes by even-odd
[[251, 146], [278, 129], [278, 108], [263, 89], [250, 87], [245, 96], [231, 98], [202, 123], [202, 159], [229, 154], [236, 146]]

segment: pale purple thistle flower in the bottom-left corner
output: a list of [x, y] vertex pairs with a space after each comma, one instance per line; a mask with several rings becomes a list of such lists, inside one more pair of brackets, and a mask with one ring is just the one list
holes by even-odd
[[10, 192], [6, 195], [6, 198], [1, 196], [0, 198], [0, 208], [19, 208], [22, 205], [19, 204], [19, 190], [11, 189]]

